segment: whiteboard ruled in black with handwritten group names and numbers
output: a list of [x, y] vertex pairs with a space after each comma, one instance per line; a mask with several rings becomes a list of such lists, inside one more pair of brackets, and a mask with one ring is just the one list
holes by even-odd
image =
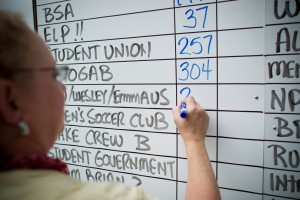
[[[38, 32], [69, 65], [50, 156], [82, 181], [184, 199], [171, 109], [195, 96], [222, 198], [299, 199], [299, 0], [37, 0]], [[199, 177], [200, 178], [200, 177]]]

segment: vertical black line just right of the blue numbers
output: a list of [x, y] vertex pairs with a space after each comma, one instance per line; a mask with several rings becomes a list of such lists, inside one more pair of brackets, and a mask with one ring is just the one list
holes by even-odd
[[217, 110], [216, 110], [216, 131], [217, 131], [217, 141], [216, 141], [216, 179], [218, 180], [218, 166], [219, 166], [219, 41], [218, 41], [218, 1], [216, 0], [216, 80], [217, 80]]

